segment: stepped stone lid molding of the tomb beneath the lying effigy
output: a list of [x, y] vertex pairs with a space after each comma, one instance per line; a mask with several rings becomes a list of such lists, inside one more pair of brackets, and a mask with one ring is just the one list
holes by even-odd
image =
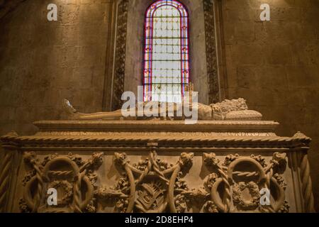
[[[274, 121], [41, 121], [40, 132], [29, 136], [2, 136], [3, 144], [26, 148], [145, 148], [157, 141], [161, 148], [298, 148], [308, 147], [310, 138], [281, 137], [272, 131]], [[50, 129], [54, 128], [54, 130]], [[69, 128], [73, 128], [69, 131]], [[227, 131], [226, 131], [227, 130]], [[160, 132], [160, 133], [159, 133]]]

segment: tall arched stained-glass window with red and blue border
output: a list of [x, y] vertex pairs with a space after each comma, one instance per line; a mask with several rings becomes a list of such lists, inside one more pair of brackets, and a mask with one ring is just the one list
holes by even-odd
[[144, 101], [181, 102], [189, 84], [189, 14], [179, 1], [155, 1], [145, 15]]

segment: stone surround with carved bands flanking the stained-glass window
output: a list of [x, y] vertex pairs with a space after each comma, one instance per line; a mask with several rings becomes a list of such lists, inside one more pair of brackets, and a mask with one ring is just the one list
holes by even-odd
[[[144, 16], [147, 7], [154, 1], [156, 0], [111, 1], [103, 111], [121, 109], [123, 92], [132, 91], [137, 94], [137, 86], [142, 86]], [[195, 91], [201, 91], [198, 94], [198, 101], [204, 104], [218, 102], [227, 98], [228, 84], [223, 42], [222, 0], [179, 1], [190, 13], [191, 81], [194, 83]], [[195, 6], [195, 2], [199, 4]], [[193, 25], [195, 18], [192, 16], [193, 13], [196, 17], [203, 17], [201, 25], [203, 31], [196, 31], [198, 26]]]

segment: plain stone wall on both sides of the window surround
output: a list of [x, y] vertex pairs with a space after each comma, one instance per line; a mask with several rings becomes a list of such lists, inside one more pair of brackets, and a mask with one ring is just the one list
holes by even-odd
[[[52, 2], [57, 22], [46, 19]], [[269, 22], [259, 21], [262, 3], [271, 6]], [[33, 121], [64, 118], [63, 98], [83, 112], [102, 109], [110, 7], [111, 0], [33, 0], [0, 18], [1, 135], [32, 134]], [[319, 1], [223, 0], [222, 13], [226, 96], [242, 96], [264, 119], [279, 121], [279, 135], [313, 138], [319, 208]]]

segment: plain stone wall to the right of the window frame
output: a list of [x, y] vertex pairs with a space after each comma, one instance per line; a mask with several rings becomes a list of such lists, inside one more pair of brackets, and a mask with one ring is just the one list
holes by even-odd
[[[271, 21], [261, 22], [268, 3]], [[319, 208], [319, 1], [223, 1], [228, 97], [245, 97], [279, 135], [313, 138], [310, 168]]]

